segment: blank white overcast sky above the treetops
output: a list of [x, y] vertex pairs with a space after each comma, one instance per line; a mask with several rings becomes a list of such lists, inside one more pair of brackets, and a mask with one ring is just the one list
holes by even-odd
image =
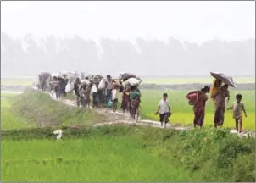
[[1, 2], [1, 28], [13, 37], [244, 40], [255, 37], [255, 3], [6, 1]]

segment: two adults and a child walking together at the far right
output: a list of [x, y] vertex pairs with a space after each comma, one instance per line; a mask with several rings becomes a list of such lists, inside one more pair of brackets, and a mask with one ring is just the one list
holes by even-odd
[[[205, 104], [208, 100], [207, 93], [210, 93], [210, 98], [214, 103], [214, 127], [222, 126], [225, 117], [226, 103], [230, 100], [230, 92], [228, 85], [221, 80], [214, 79], [212, 87], [204, 86], [200, 91], [189, 92], [186, 98], [193, 105], [194, 110], [194, 127], [197, 125], [202, 127], [205, 115]], [[242, 95], [237, 94], [237, 101], [232, 103], [227, 109], [233, 110], [233, 118], [236, 121], [237, 132], [242, 133], [242, 112], [247, 117], [246, 110], [242, 101]], [[239, 126], [238, 126], [239, 125]]]

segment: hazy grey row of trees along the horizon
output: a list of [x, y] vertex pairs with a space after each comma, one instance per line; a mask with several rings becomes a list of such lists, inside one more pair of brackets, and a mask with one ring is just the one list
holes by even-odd
[[48, 36], [36, 42], [31, 34], [14, 39], [2, 32], [2, 75], [36, 75], [41, 71], [77, 70], [103, 75], [131, 71], [138, 75], [254, 75], [255, 39], [211, 40], [198, 45], [169, 38], [129, 41], [101, 38], [100, 45], [81, 36]]

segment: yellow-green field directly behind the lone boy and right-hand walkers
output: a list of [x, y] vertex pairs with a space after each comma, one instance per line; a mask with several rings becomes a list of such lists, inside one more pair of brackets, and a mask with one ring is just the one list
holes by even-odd
[[[193, 110], [192, 106], [186, 101], [186, 94], [190, 91], [160, 91], [160, 90], [143, 90], [142, 91], [142, 117], [146, 119], [159, 120], [159, 116], [154, 112], [157, 108], [159, 100], [162, 98], [163, 93], [167, 92], [170, 101], [170, 108], [172, 116], [170, 123], [177, 123], [181, 125], [192, 125]], [[231, 100], [228, 105], [236, 101], [235, 96], [237, 93], [242, 94], [242, 103], [247, 108], [248, 118], [244, 119], [243, 128], [248, 130], [255, 129], [255, 92], [254, 91], [231, 91]], [[120, 98], [121, 101], [121, 98]], [[214, 105], [212, 101], [206, 103], [206, 115], [204, 124], [214, 125]], [[234, 119], [232, 119], [232, 112], [225, 112], [224, 127], [235, 127]]]

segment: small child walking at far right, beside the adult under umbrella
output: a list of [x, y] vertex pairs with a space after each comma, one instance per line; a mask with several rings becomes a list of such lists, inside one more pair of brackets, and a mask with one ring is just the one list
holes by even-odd
[[[247, 114], [245, 111], [244, 104], [241, 103], [242, 101], [242, 95], [237, 94], [236, 96], [237, 102], [232, 103], [231, 107], [227, 108], [228, 110], [233, 110], [233, 118], [236, 122], [236, 129], [239, 134], [242, 134], [242, 112], [244, 113], [244, 116], [247, 118]], [[239, 127], [238, 127], [239, 125]]]

